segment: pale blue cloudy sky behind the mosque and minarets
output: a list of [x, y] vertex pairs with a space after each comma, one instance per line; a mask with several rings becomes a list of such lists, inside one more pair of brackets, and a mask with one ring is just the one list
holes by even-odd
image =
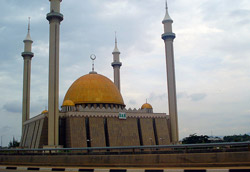
[[[180, 139], [250, 133], [250, 1], [168, 0], [173, 19]], [[23, 40], [31, 17], [31, 117], [48, 105], [48, 0], [0, 1], [0, 137], [21, 137]], [[146, 99], [168, 113], [162, 20], [165, 0], [63, 0], [60, 105], [67, 89], [95, 70], [113, 80], [114, 33], [127, 108]]]

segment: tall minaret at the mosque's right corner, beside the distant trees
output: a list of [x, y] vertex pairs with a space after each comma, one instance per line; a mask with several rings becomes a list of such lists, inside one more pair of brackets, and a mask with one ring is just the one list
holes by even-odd
[[174, 48], [173, 41], [175, 34], [172, 32], [173, 20], [168, 14], [168, 5], [166, 1], [166, 15], [162, 21], [164, 25], [164, 33], [162, 39], [165, 42], [166, 65], [167, 65], [167, 83], [168, 83], [168, 104], [170, 115], [170, 127], [172, 143], [176, 144], [179, 141], [178, 132], [178, 116], [177, 116], [177, 100], [175, 86], [175, 69], [174, 69]]

